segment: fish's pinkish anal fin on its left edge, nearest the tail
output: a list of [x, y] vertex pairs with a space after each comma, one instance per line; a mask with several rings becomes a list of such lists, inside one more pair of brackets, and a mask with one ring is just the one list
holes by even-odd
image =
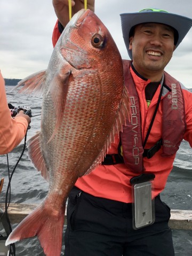
[[33, 162], [37, 170], [41, 172], [44, 179], [49, 181], [49, 172], [46, 168], [45, 160], [41, 151], [39, 131], [28, 141], [28, 155], [31, 162]]

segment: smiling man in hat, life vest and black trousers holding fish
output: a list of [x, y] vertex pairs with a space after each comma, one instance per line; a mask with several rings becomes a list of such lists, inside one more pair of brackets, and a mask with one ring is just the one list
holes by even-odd
[[[94, 10], [94, 1], [88, 3]], [[68, 1], [53, 0], [53, 6], [59, 19], [53, 32], [55, 44], [68, 21]], [[82, 1], [72, 1], [72, 6], [76, 11], [84, 7]], [[182, 139], [192, 146], [192, 95], [164, 68], [192, 20], [158, 9], [124, 13], [121, 20], [132, 59], [124, 61], [131, 121], [123, 127], [121, 139], [116, 136], [102, 165], [79, 178], [70, 192], [65, 256], [174, 255], [167, 224], [170, 208], [159, 193]], [[155, 220], [147, 187], [151, 181]], [[139, 187], [138, 196], [132, 190]], [[138, 200], [138, 207], [133, 207]], [[148, 213], [150, 221], [137, 219]]]

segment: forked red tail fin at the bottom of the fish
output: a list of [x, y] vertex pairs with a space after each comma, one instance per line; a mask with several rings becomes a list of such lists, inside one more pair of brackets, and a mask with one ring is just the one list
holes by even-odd
[[46, 256], [60, 256], [65, 208], [58, 214], [46, 214], [44, 203], [31, 212], [11, 232], [5, 245], [37, 236]]

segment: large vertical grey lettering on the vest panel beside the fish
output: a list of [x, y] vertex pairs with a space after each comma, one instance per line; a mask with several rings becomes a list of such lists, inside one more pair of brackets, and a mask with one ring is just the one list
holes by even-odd
[[131, 125], [133, 135], [133, 158], [135, 159], [135, 165], [139, 164], [139, 145], [138, 145], [138, 117], [137, 117], [137, 108], [135, 105], [134, 97], [130, 97], [131, 103]]

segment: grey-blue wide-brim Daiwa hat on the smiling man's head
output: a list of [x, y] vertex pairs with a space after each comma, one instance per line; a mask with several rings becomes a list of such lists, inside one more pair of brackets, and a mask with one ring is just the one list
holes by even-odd
[[125, 41], [127, 52], [131, 59], [132, 51], [129, 50], [129, 38], [130, 30], [135, 25], [146, 22], [155, 22], [173, 27], [178, 32], [178, 40], [177, 43], [175, 43], [175, 49], [181, 43], [181, 41], [186, 36], [192, 26], [192, 19], [190, 18], [170, 13], [165, 10], [153, 8], [143, 9], [140, 12], [135, 13], [122, 13], [120, 14], [120, 16], [122, 22], [123, 38]]

